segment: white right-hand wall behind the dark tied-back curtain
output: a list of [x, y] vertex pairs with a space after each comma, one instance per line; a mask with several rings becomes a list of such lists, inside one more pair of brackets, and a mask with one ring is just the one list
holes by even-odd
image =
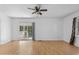
[[[63, 27], [64, 37], [63, 38], [66, 42], [70, 42], [70, 37], [71, 37], [71, 33], [72, 33], [72, 21], [73, 21], [73, 18], [77, 17], [77, 16], [79, 16], [79, 12], [74, 13], [74, 14], [64, 18], [64, 24], [63, 24], [64, 25], [64, 27]], [[77, 47], [79, 47], [79, 38], [78, 37], [76, 37], [75, 45]]]

